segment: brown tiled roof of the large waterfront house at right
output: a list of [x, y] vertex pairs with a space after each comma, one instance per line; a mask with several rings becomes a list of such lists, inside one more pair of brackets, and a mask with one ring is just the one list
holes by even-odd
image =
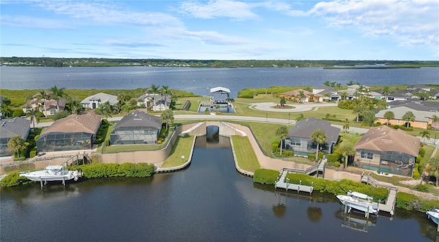
[[419, 138], [403, 130], [394, 130], [386, 125], [370, 128], [355, 144], [355, 149], [369, 149], [379, 152], [401, 152], [418, 156]]

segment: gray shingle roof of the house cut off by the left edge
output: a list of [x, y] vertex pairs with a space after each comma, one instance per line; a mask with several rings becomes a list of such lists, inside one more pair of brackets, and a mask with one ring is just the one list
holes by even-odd
[[30, 123], [30, 120], [21, 117], [0, 119], [0, 138], [10, 138], [19, 135], [25, 140], [29, 135]]

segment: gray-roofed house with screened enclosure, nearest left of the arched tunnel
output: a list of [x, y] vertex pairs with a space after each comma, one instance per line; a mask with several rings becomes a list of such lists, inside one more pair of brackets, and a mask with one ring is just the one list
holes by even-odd
[[110, 145], [157, 144], [162, 128], [159, 117], [136, 110], [126, 114], [110, 134]]

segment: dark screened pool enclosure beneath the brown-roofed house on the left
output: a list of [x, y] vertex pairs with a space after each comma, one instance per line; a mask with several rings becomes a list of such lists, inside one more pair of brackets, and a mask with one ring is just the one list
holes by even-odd
[[93, 134], [86, 132], [50, 132], [42, 134], [36, 141], [38, 152], [91, 149]]

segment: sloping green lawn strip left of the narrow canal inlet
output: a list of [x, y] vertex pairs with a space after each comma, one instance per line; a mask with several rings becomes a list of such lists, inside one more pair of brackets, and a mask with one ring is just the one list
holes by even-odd
[[[183, 165], [191, 154], [194, 138], [195, 136], [178, 136], [175, 145], [172, 147], [171, 154], [169, 154], [169, 157], [163, 162], [161, 167], [167, 168]], [[181, 156], [185, 156], [185, 159], [183, 160]]]

